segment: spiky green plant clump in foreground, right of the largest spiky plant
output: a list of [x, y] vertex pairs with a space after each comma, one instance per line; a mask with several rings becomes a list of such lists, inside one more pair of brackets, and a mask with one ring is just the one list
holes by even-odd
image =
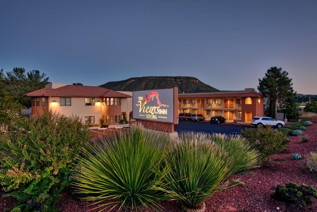
[[257, 165], [257, 152], [241, 136], [182, 133], [167, 149], [162, 190], [192, 211], [204, 209], [204, 200], [232, 174]]

